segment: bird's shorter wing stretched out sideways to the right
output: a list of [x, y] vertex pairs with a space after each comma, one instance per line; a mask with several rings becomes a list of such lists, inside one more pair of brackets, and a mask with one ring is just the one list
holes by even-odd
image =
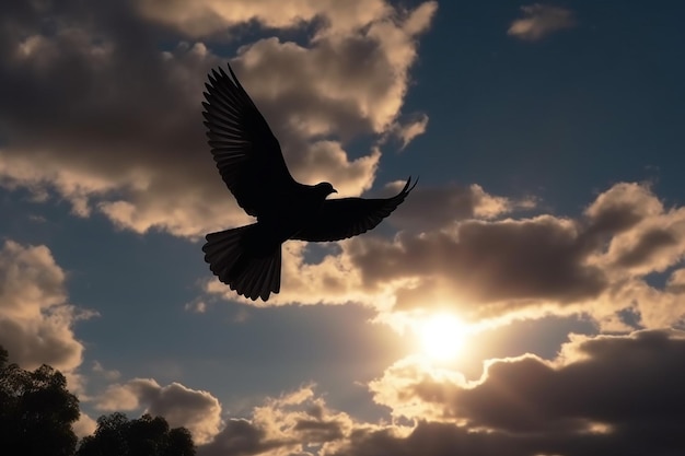
[[[418, 179], [416, 180], [416, 183]], [[411, 177], [402, 191], [392, 198], [340, 198], [324, 201], [318, 217], [293, 239], [310, 242], [339, 241], [375, 227], [391, 214], [414, 189]]]

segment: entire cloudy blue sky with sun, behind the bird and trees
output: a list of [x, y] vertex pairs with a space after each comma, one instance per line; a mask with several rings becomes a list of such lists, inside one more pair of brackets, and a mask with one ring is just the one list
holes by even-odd
[[[0, 344], [97, 417], [200, 456], [685, 452], [677, 2], [0, 4]], [[283, 245], [237, 296], [204, 236], [251, 222], [204, 84], [230, 62], [300, 182], [419, 184], [372, 232]], [[268, 185], [268, 183], [265, 183]]]

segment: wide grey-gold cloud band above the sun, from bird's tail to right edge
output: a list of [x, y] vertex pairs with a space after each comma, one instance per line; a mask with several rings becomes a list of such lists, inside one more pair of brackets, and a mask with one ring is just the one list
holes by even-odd
[[[259, 305], [355, 302], [400, 326], [436, 309], [488, 325], [582, 314], [613, 331], [683, 318], [683, 208], [664, 208], [649, 185], [620, 183], [577, 218], [502, 218], [534, 204], [477, 185], [417, 187], [391, 219], [403, 229], [392, 238], [371, 233], [324, 246], [315, 262], [304, 244], [286, 243], [282, 292]], [[666, 284], [651, 283], [652, 273], [665, 273]], [[217, 281], [205, 291], [235, 299]], [[626, 311], [635, 324], [623, 320]]]

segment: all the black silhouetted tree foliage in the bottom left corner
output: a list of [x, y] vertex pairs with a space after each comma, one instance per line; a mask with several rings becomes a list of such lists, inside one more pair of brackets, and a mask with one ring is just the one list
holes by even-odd
[[115, 412], [97, 419], [93, 435], [78, 439], [71, 425], [79, 400], [67, 379], [49, 365], [33, 372], [9, 364], [0, 346], [0, 454], [22, 456], [194, 456], [185, 428], [170, 429], [162, 417], [129, 420]]

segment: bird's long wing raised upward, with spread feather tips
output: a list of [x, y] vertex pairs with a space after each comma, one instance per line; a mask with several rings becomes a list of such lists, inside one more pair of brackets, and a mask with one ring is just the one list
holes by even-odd
[[209, 74], [202, 102], [211, 153], [237, 203], [258, 217], [274, 203], [274, 194], [294, 184], [278, 140], [237, 81], [219, 68]]

